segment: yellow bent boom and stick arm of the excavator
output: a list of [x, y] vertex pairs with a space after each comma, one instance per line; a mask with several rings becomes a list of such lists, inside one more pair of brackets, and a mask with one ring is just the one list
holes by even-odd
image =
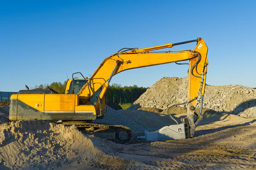
[[[172, 48], [175, 45], [196, 42], [194, 50], [158, 51]], [[167, 45], [153, 46], [150, 48], [123, 48], [122, 51], [104, 59], [78, 94], [79, 104], [90, 101], [99, 115], [102, 115], [102, 99], [109, 86], [111, 78], [127, 69], [154, 66], [170, 62], [189, 60], [188, 70], [188, 110], [187, 117], [190, 126], [190, 135], [193, 136], [195, 126], [202, 120], [202, 102], [204, 98], [205, 78], [207, 73], [207, 45], [204, 39], [198, 38], [181, 43], [168, 43]], [[200, 113], [195, 113], [196, 99], [201, 95]], [[196, 118], [194, 120], [194, 115]]]

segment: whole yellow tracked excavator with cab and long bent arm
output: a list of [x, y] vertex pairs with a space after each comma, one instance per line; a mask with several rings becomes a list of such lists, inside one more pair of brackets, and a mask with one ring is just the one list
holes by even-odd
[[[162, 50], [173, 46], [196, 42], [194, 50]], [[150, 48], [122, 48], [104, 59], [97, 70], [88, 78], [77, 72], [67, 81], [65, 94], [54, 94], [48, 90], [20, 90], [10, 98], [10, 120], [61, 120], [65, 125], [76, 125], [90, 132], [106, 132], [116, 142], [131, 139], [131, 130], [122, 125], [92, 124], [105, 113], [105, 94], [111, 78], [127, 69], [189, 61], [187, 116], [182, 120], [185, 138], [193, 137], [196, 124], [202, 120], [202, 103], [205, 92], [208, 48], [204, 39], [197, 38], [180, 43]], [[83, 79], [74, 78], [81, 74]], [[200, 113], [195, 113], [196, 99], [201, 96]]]

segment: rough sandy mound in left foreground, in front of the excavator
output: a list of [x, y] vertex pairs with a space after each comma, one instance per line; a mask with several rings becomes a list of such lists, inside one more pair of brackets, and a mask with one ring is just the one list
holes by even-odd
[[90, 139], [74, 127], [35, 120], [1, 124], [0, 152], [1, 164], [12, 169], [35, 169], [35, 164], [38, 169], [54, 168], [60, 161], [63, 165], [76, 159], [83, 162], [97, 154]]

